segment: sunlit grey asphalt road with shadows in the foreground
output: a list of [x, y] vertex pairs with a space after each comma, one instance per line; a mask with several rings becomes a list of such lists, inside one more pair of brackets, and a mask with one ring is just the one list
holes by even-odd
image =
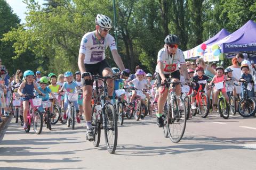
[[86, 141], [84, 125], [44, 125], [36, 135], [12, 118], [1, 137], [0, 169], [256, 169], [256, 117], [193, 117], [178, 144], [164, 138], [155, 118], [125, 120], [114, 155], [103, 133], [98, 148]]

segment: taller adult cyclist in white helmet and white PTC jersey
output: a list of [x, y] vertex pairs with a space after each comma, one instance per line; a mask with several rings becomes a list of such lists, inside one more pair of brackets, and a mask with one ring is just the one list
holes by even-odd
[[[100, 74], [102, 76], [112, 75], [112, 70], [106, 61], [105, 50], [110, 48], [116, 65], [123, 71], [124, 64], [116, 48], [115, 39], [109, 35], [112, 21], [108, 16], [98, 14], [95, 19], [95, 31], [87, 32], [82, 38], [78, 56], [78, 67], [82, 73], [81, 86], [83, 88], [83, 110], [87, 126], [86, 139], [93, 140], [93, 130], [91, 124], [91, 99], [93, 80], [91, 75]], [[114, 80], [108, 80], [109, 98], [113, 96]]]

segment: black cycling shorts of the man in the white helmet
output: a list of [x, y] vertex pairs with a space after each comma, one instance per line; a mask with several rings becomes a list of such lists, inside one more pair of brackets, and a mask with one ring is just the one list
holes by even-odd
[[[104, 69], [106, 68], [111, 68], [108, 64], [108, 62], [106, 61], [106, 59], [104, 59], [103, 61], [96, 63], [96, 64], [84, 64], [85, 66], [85, 71], [91, 73], [92, 75], [96, 75], [99, 74], [102, 76], [102, 72]], [[81, 80], [81, 86], [84, 87], [86, 85], [93, 85], [93, 80]]]

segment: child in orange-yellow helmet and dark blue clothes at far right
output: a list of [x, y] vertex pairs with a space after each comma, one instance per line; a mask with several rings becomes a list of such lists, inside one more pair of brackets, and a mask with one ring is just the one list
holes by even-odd
[[[241, 79], [239, 79], [239, 82], [242, 82], [242, 98], [244, 98], [244, 90], [247, 91], [247, 95], [249, 97], [253, 97], [253, 92], [252, 90], [247, 90], [247, 84], [251, 83], [252, 88], [254, 87], [254, 81], [252, 78], [252, 75], [249, 74], [249, 65], [247, 64], [242, 64], [241, 65], [241, 70], [243, 72], [243, 74], [241, 75]], [[245, 84], [247, 83], [247, 84]]]

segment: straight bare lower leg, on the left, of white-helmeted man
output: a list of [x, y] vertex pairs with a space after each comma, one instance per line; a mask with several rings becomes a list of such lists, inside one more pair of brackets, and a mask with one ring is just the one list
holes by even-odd
[[91, 106], [91, 100], [92, 100], [92, 86], [86, 85], [82, 87], [83, 89], [83, 110], [84, 110], [84, 116], [85, 121], [91, 121], [92, 120], [92, 106]]

